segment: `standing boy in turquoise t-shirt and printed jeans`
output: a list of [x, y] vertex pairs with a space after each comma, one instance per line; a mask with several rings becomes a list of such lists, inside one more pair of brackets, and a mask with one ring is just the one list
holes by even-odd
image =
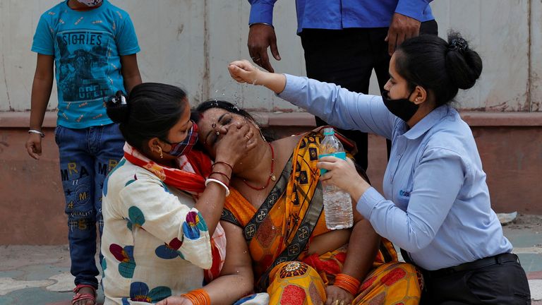
[[102, 186], [123, 156], [124, 145], [118, 126], [106, 114], [104, 99], [141, 83], [135, 55], [140, 51], [138, 39], [128, 13], [109, 1], [65, 0], [42, 14], [32, 51], [37, 52], [37, 67], [26, 148], [39, 160], [55, 74], [59, 98], [55, 140], [66, 197], [71, 273], [76, 277], [73, 304], [95, 304]]

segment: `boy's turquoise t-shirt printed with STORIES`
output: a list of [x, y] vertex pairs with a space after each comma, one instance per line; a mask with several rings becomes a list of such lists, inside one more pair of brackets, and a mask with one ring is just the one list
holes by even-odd
[[86, 128], [112, 124], [104, 99], [124, 90], [121, 56], [140, 51], [126, 11], [104, 0], [89, 11], [62, 1], [42, 14], [32, 51], [54, 55], [59, 93], [57, 124]]

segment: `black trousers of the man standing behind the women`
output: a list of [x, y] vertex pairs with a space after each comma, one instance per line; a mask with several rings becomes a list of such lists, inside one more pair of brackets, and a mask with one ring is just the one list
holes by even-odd
[[[382, 92], [388, 78], [390, 55], [384, 41], [388, 28], [349, 28], [344, 30], [303, 29], [301, 44], [305, 51], [307, 76], [326, 83], [335, 83], [350, 91], [367, 94], [371, 73], [375, 70]], [[435, 20], [421, 23], [421, 34], [437, 35]], [[327, 125], [316, 118], [318, 126]], [[358, 165], [367, 169], [367, 133], [339, 130], [354, 140]], [[389, 154], [390, 143], [388, 144]]]

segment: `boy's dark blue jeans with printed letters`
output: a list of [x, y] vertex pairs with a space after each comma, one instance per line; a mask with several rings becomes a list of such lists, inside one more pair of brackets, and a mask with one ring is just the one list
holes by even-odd
[[[123, 156], [124, 138], [117, 124], [74, 129], [57, 126], [60, 174], [70, 245], [71, 274], [75, 284], [98, 287], [96, 276], [96, 227], [103, 229], [102, 187], [104, 179]], [[100, 264], [102, 255], [100, 253]]]

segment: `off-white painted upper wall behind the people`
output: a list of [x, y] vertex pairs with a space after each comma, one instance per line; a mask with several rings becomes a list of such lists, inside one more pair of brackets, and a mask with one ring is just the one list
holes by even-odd
[[[30, 108], [37, 20], [57, 0], [0, 0], [0, 111]], [[242, 107], [298, 110], [265, 88], [229, 79], [229, 61], [248, 58], [246, 0], [112, 0], [131, 14], [144, 81], [181, 85], [192, 102], [224, 98]], [[457, 97], [464, 109], [542, 111], [542, 4], [536, 0], [435, 0], [440, 36], [454, 28], [483, 56], [475, 88]], [[279, 0], [275, 28], [282, 61], [275, 71], [304, 75], [294, 1]], [[371, 92], [378, 93], [375, 82]], [[56, 107], [56, 90], [49, 109]]]

